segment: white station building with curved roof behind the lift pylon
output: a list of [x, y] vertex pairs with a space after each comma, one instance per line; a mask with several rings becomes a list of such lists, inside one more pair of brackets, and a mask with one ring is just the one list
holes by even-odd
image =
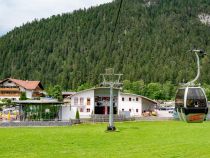
[[[110, 88], [87, 89], [75, 93], [70, 98], [70, 105], [62, 107], [62, 120], [75, 119], [77, 110], [80, 118], [90, 118], [92, 114], [109, 114]], [[147, 97], [113, 89], [114, 114], [141, 117], [144, 111], [153, 111], [156, 106], [157, 102]]]

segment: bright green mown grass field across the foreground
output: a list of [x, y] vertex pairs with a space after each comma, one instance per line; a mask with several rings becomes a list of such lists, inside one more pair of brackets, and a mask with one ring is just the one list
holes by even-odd
[[0, 157], [209, 158], [210, 122], [116, 123], [0, 128]]

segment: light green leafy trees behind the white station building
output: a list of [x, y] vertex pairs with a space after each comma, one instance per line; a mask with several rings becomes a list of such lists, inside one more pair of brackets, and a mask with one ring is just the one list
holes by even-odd
[[[174, 85], [171, 83], [171, 81], [167, 81], [163, 84], [158, 82], [151, 82], [151, 83], [145, 83], [143, 80], [139, 81], [130, 81], [130, 80], [124, 80], [122, 82], [122, 92], [124, 93], [131, 93], [131, 94], [138, 94], [142, 96], [146, 96], [148, 98], [154, 99], [154, 100], [175, 100], [176, 91], [180, 86]], [[82, 91], [86, 89], [90, 89], [93, 87], [99, 87], [100, 85], [91, 85], [89, 83], [82, 84], [78, 86], [76, 89], [70, 90], [70, 91]], [[204, 84], [201, 87], [204, 88], [206, 96], [208, 100], [210, 100], [210, 85]], [[59, 90], [57, 90], [59, 89]], [[54, 98], [58, 98], [59, 93], [61, 94], [61, 86], [56, 85], [54, 87], [48, 88], [47, 92], [49, 96], [52, 96]]]

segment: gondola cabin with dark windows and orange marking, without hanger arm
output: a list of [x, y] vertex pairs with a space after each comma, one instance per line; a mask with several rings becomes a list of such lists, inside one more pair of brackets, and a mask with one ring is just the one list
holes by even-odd
[[208, 113], [207, 98], [201, 87], [179, 88], [175, 98], [175, 110], [180, 120], [203, 122]]

